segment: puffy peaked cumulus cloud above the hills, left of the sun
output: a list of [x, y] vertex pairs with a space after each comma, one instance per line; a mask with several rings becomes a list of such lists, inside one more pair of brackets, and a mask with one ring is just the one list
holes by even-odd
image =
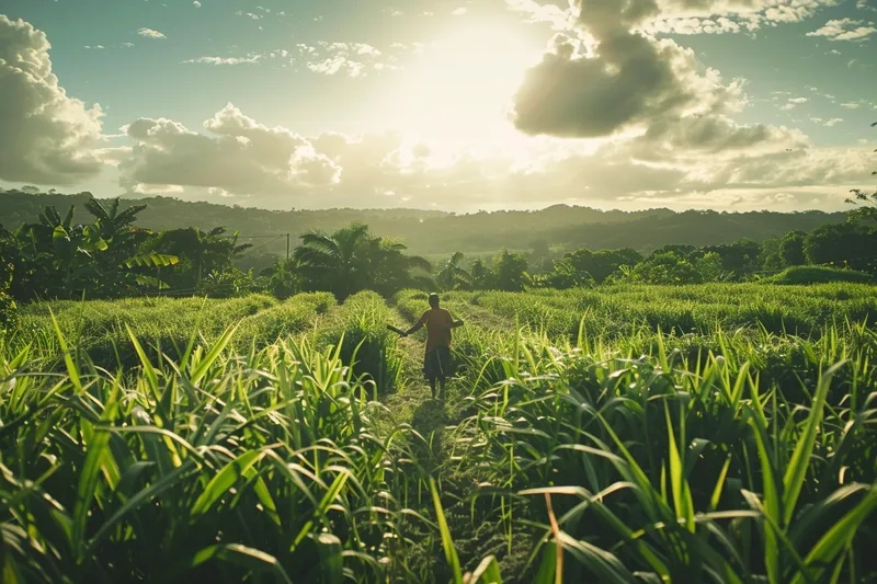
[[121, 184], [218, 187], [235, 194], [284, 196], [338, 182], [341, 168], [301, 136], [269, 128], [226, 105], [204, 123], [212, 135], [166, 119], [140, 118], [126, 128], [130, 157]]

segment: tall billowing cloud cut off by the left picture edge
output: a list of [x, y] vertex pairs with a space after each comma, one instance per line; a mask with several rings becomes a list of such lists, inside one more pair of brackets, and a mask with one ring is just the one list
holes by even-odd
[[100, 171], [100, 105], [58, 84], [46, 35], [0, 14], [0, 179], [75, 184]]

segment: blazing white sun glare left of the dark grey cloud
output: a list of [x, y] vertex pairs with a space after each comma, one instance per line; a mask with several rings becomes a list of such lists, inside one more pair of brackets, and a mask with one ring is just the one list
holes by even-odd
[[384, 122], [448, 147], [505, 142], [511, 100], [542, 46], [520, 24], [459, 18], [403, 64]]

